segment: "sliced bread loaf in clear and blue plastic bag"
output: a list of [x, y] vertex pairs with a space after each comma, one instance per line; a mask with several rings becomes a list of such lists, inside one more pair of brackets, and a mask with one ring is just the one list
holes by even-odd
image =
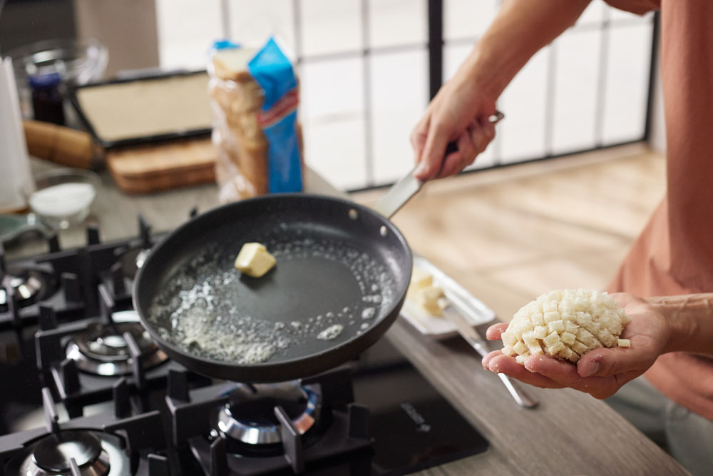
[[221, 201], [302, 191], [297, 78], [275, 39], [216, 42], [209, 72]]

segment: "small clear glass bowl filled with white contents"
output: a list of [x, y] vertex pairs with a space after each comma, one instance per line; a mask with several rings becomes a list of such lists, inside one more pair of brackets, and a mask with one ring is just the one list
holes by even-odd
[[101, 180], [96, 173], [78, 168], [61, 168], [34, 178], [34, 189], [23, 191], [30, 209], [43, 223], [56, 229], [82, 223]]

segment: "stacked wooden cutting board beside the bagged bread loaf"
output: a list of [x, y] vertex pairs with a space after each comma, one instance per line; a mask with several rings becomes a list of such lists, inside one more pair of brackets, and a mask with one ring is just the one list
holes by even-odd
[[217, 150], [210, 138], [106, 151], [106, 165], [126, 193], [151, 193], [215, 183]]

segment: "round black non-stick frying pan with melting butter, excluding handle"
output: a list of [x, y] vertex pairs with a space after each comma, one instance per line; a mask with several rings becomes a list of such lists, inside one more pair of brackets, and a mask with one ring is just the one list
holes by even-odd
[[[262, 278], [233, 265], [250, 241], [277, 258]], [[339, 365], [373, 343], [378, 337], [366, 335], [381, 335], [395, 318], [410, 273], [403, 237], [376, 213], [347, 201], [272, 196], [179, 228], [150, 255], [135, 295], [152, 334], [179, 360], [188, 353], [199, 365], [212, 361], [224, 378], [282, 380], [280, 366], [298, 374], [302, 361], [309, 375], [320, 356]], [[261, 367], [277, 369], [277, 378], [256, 378]]]

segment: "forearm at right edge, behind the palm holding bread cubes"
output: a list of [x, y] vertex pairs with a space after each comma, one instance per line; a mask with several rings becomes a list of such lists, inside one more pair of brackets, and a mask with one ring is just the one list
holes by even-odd
[[713, 293], [648, 298], [670, 328], [665, 352], [713, 355]]

